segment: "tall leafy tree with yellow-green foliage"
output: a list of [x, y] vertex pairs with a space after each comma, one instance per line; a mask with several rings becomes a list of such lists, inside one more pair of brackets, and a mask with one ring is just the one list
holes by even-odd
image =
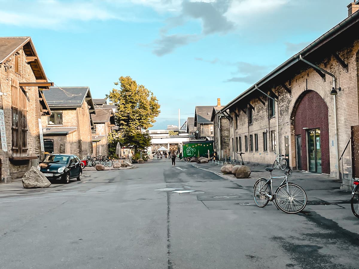
[[144, 150], [151, 143], [147, 129], [153, 126], [155, 117], [160, 113], [158, 100], [144, 85], [138, 85], [129, 76], [120, 77], [115, 85], [120, 85], [120, 89], [112, 89], [106, 95], [117, 107], [115, 121], [119, 127], [108, 137], [111, 144], [109, 152], [116, 151], [117, 142], [121, 146], [133, 147], [135, 152]]

